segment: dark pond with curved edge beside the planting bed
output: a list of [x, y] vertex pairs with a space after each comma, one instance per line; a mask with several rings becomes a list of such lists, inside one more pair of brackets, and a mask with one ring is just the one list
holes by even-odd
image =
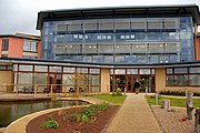
[[87, 105], [84, 101], [26, 101], [0, 102], [0, 127], [8, 126], [17, 119], [38, 111], [73, 105]]

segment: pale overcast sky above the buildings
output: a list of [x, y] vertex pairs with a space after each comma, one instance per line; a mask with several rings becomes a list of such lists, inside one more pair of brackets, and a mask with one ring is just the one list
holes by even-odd
[[200, 0], [0, 0], [0, 34], [39, 35], [36, 25], [42, 10], [160, 4], [200, 6]]

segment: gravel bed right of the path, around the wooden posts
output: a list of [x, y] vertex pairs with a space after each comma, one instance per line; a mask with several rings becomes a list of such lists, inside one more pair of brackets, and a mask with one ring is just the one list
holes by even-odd
[[187, 117], [187, 111], [183, 108], [172, 108], [174, 111], [168, 112], [160, 106], [151, 106], [152, 112], [163, 133], [193, 133], [194, 121], [181, 121]]

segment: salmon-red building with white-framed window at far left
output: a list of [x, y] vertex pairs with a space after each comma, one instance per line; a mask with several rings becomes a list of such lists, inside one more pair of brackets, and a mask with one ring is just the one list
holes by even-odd
[[40, 59], [40, 43], [38, 35], [0, 34], [0, 58]]

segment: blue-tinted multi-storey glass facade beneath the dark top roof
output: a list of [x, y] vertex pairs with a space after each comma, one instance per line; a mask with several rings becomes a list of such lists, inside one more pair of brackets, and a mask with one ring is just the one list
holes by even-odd
[[194, 61], [192, 17], [44, 21], [42, 59], [148, 64]]

